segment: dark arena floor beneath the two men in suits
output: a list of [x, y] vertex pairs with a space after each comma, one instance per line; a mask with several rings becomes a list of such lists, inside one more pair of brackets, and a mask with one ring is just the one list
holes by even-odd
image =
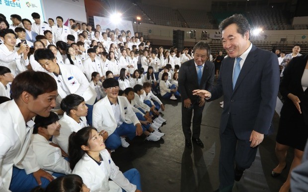
[[[120, 147], [112, 158], [122, 172], [136, 168], [141, 174], [143, 192], [213, 192], [219, 187], [218, 160], [220, 152], [219, 124], [222, 99], [206, 103], [203, 111], [201, 136], [205, 147], [187, 149], [181, 127], [180, 101], [163, 100], [164, 119], [167, 124], [160, 130], [166, 135], [157, 142], [144, 137], [129, 141], [128, 148]], [[278, 102], [280, 100], [278, 99]], [[235, 183], [233, 192], [278, 192], [286, 180], [292, 162], [292, 151], [288, 154], [288, 167], [280, 177], [270, 173], [277, 164], [275, 135], [279, 122], [275, 113], [275, 132], [266, 137], [258, 149], [251, 168], [244, 172], [240, 182]]]

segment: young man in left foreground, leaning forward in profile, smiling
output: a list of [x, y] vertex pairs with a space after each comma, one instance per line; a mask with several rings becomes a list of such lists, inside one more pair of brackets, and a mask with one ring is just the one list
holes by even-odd
[[49, 116], [56, 106], [57, 83], [44, 72], [27, 71], [16, 76], [11, 91], [13, 100], [0, 104], [0, 191], [45, 188], [53, 177], [40, 169], [29, 147], [32, 118]]

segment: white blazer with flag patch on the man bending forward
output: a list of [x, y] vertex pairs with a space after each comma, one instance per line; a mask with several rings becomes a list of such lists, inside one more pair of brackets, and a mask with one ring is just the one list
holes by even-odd
[[[59, 65], [60, 71], [64, 80], [65, 85], [70, 91], [70, 94], [76, 94], [82, 96], [86, 104], [94, 104], [96, 93], [91, 88], [90, 83], [75, 65]], [[55, 74], [51, 73], [58, 84], [58, 94], [61, 98], [67, 96], [66, 92], [62, 90], [61, 83]]]

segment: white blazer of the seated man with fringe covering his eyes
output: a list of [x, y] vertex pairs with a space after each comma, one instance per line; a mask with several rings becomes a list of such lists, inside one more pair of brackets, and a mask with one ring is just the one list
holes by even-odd
[[[134, 125], [139, 123], [139, 120], [127, 98], [125, 96], [118, 96], [118, 102], [122, 121], [128, 124], [134, 123]], [[111, 108], [108, 96], [94, 104], [92, 122], [93, 127], [97, 128], [99, 131], [107, 131], [108, 135], [111, 135], [117, 128], [117, 121]]]

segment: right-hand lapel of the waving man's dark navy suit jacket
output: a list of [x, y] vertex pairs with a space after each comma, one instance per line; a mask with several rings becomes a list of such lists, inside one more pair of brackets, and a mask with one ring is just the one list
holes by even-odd
[[[238, 75], [238, 78], [236, 80], [236, 84], [234, 87], [233, 92], [235, 92], [235, 90], [237, 89], [237, 87], [240, 85], [240, 83], [243, 81], [244, 77], [247, 75], [247, 73], [250, 71], [250, 69], [253, 67], [254, 62], [255, 62], [255, 58], [256, 58], [256, 54], [255, 54], [255, 49], [256, 47], [254, 45], [252, 45], [252, 48], [250, 50], [250, 52], [248, 53], [246, 60], [243, 64], [243, 67], [240, 70], [240, 73]], [[232, 70], [233, 73], [233, 70]], [[232, 81], [231, 81], [232, 82]]]

